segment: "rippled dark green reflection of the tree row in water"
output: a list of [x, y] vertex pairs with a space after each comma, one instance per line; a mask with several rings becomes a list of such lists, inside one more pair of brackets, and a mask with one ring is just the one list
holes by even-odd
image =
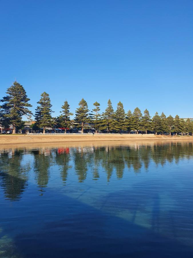
[[[144, 171], [142, 167], [148, 171], [150, 162], [163, 166], [166, 162], [178, 163], [184, 157], [190, 159], [192, 150], [192, 142], [3, 148], [0, 151], [0, 185], [5, 198], [19, 200], [27, 189], [29, 171], [34, 173], [40, 191], [44, 191], [51, 167], [59, 169], [63, 185], [67, 183], [69, 170], [75, 172], [79, 183], [85, 181], [88, 173], [92, 173], [93, 180], [98, 180], [103, 171], [110, 182], [114, 172], [117, 179], [122, 179], [131, 169], [134, 173]], [[33, 159], [24, 160], [25, 155]]]

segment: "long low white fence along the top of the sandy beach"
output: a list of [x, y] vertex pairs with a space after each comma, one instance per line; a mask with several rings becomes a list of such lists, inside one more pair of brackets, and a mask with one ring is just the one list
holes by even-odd
[[[51, 135], [51, 136], [55, 136], [55, 135], [59, 135], [59, 136], [70, 136], [70, 135], [86, 135], [86, 136], [93, 136], [92, 133], [27, 133], [27, 135]], [[106, 135], [106, 136], [154, 136], [154, 134], [113, 134], [113, 133], [95, 133], [94, 136], [101, 136], [101, 135]]]

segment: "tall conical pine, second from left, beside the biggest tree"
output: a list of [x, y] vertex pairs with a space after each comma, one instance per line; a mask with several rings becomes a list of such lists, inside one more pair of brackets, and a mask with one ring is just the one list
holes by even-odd
[[49, 94], [45, 91], [41, 94], [40, 100], [37, 102], [39, 106], [36, 108], [35, 112], [35, 120], [38, 127], [43, 127], [43, 133], [45, 133], [46, 127], [53, 126], [53, 120], [51, 117], [51, 101], [49, 98]]

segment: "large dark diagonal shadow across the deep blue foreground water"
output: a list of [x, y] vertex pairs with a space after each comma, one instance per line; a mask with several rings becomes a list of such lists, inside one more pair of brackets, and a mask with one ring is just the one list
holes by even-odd
[[[61, 196], [57, 198], [61, 200]], [[14, 238], [22, 257], [181, 258], [193, 255], [192, 248], [153, 230], [96, 210], [67, 196], [62, 199], [59, 206], [50, 206], [52, 216], [57, 214], [57, 219], [43, 222], [38, 232], [18, 234]], [[155, 209], [158, 206], [156, 197]], [[69, 214], [71, 209], [73, 218]], [[153, 215], [152, 223], [154, 227], [159, 227], [157, 216]]]

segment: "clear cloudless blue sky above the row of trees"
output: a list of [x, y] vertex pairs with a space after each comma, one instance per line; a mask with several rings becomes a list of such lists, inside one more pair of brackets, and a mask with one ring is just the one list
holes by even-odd
[[0, 98], [15, 80], [34, 112], [83, 97], [193, 117], [193, 1], [1, 1]]

